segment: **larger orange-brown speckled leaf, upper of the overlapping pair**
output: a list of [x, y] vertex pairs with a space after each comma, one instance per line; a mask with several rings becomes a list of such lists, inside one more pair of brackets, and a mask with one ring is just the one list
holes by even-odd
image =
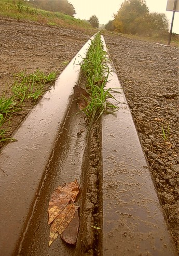
[[63, 187], [59, 186], [54, 190], [48, 207], [48, 224], [52, 223], [54, 219], [56, 219], [70, 201], [75, 201], [78, 193], [79, 184], [76, 179], [74, 182], [66, 183]]

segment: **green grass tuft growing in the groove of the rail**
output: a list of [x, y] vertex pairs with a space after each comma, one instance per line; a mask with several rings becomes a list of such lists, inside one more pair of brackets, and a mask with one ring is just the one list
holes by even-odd
[[100, 34], [97, 34], [91, 41], [87, 56], [80, 66], [82, 75], [87, 81], [86, 89], [90, 95], [88, 105], [82, 111], [85, 112], [87, 122], [91, 126], [92, 122], [98, 120], [103, 113], [113, 113], [118, 109], [117, 106], [107, 101], [108, 98], [114, 98], [110, 93], [114, 88], [105, 89], [110, 70]]

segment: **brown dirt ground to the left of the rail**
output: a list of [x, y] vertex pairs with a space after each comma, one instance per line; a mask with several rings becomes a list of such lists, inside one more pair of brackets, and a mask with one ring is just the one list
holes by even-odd
[[[82, 31], [30, 21], [18, 21], [0, 16], [0, 96], [11, 95], [13, 74], [26, 70], [32, 73], [40, 69], [45, 73], [65, 68], [91, 35]], [[33, 103], [25, 103], [23, 112], [17, 113], [10, 122], [6, 135], [18, 127]], [[3, 144], [0, 143], [0, 147]]]

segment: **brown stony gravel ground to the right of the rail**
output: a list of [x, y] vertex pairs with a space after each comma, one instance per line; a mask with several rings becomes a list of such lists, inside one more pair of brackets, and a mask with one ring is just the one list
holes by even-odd
[[178, 49], [121, 36], [105, 41], [178, 248]]

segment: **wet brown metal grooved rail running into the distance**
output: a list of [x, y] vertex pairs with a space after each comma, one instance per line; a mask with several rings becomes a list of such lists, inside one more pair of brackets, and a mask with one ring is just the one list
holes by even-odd
[[[102, 41], [106, 47], [103, 37]], [[177, 255], [112, 63], [106, 86], [120, 87], [120, 94], [113, 95], [119, 110], [94, 124], [88, 139], [82, 114], [74, 115], [78, 109], [73, 86], [80, 74], [74, 61], [85, 56], [89, 43], [22, 123], [14, 135], [18, 141], [1, 153], [0, 251], [2, 255]], [[77, 245], [68, 247], [56, 240], [48, 247], [50, 196], [74, 178], [81, 191]], [[98, 232], [95, 225], [101, 228]]]

